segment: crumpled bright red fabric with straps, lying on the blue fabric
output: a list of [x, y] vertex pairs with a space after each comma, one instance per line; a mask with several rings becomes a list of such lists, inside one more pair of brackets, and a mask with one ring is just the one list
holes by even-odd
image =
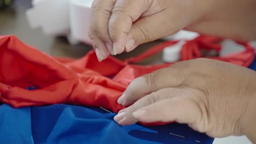
[[[202, 49], [219, 51], [219, 41], [207, 36], [188, 41], [182, 48], [181, 60], [202, 57]], [[131, 63], [141, 62], [176, 43], [166, 41], [125, 61], [109, 56], [98, 62], [94, 51], [78, 60], [53, 58], [13, 35], [0, 36], [0, 100], [13, 107], [69, 103], [101, 106], [118, 112], [124, 107], [117, 99], [132, 80], [171, 64], [141, 66]], [[254, 49], [247, 43], [240, 44], [246, 46], [244, 52], [210, 58], [248, 67], [254, 59]], [[39, 89], [26, 90], [31, 86]]]

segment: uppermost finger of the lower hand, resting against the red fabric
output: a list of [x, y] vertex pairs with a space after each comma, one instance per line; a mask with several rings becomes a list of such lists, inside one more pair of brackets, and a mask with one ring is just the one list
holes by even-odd
[[179, 65], [178, 67], [173, 65], [173, 67], [156, 70], [154, 73], [133, 80], [118, 99], [118, 103], [129, 106], [138, 99], [159, 89], [182, 85], [185, 75], [184, 70]]

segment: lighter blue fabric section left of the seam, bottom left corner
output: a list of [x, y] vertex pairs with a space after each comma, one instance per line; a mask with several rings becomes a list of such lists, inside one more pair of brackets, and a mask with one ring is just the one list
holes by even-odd
[[32, 143], [30, 107], [0, 106], [0, 143]]

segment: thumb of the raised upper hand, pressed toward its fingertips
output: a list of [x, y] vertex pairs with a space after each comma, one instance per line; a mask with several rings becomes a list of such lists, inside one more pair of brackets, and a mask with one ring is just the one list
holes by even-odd
[[[170, 23], [170, 11], [149, 15], [133, 23], [131, 31], [127, 34], [126, 51], [134, 50], [138, 45], [164, 38], [180, 31], [184, 24], [173, 20]], [[175, 23], [175, 25], [174, 25]]]

